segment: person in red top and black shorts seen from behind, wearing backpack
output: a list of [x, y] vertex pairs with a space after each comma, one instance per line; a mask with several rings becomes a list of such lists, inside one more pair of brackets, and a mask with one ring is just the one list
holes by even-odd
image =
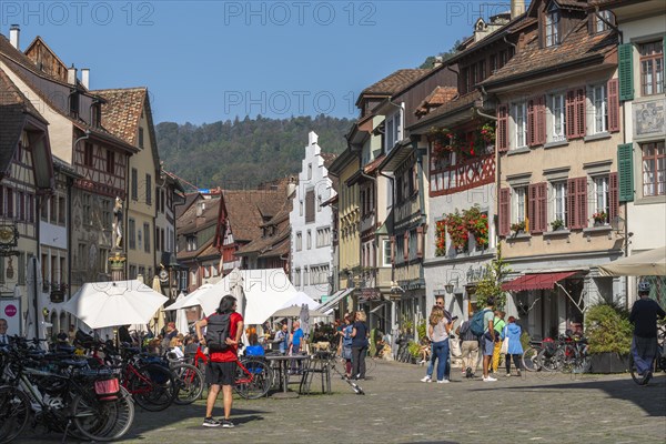
[[[243, 334], [243, 316], [236, 313], [236, 300], [231, 294], [225, 295], [220, 301], [218, 311], [206, 319], [203, 319], [195, 324], [196, 337], [200, 343], [206, 346], [205, 339], [201, 333], [201, 327], [204, 327], [211, 322], [213, 316], [230, 316], [229, 323], [229, 337], [226, 337], [226, 345], [224, 351], [211, 352], [209, 355], [209, 363], [205, 367], [205, 380], [206, 383], [211, 384], [209, 390], [209, 396], [205, 403], [205, 418], [203, 420], [203, 426], [205, 427], [233, 427], [234, 424], [230, 421], [231, 405], [233, 402], [233, 384], [235, 380], [235, 370], [238, 361], [239, 342]], [[222, 422], [213, 418], [213, 407], [220, 393], [220, 386], [222, 387], [222, 395], [224, 398], [224, 418]]]

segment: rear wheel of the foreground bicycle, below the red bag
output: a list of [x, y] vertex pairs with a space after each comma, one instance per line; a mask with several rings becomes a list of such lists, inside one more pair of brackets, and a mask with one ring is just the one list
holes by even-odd
[[134, 422], [134, 403], [121, 387], [114, 401], [97, 401], [81, 395], [72, 400], [72, 416], [77, 430], [90, 441], [117, 441]]

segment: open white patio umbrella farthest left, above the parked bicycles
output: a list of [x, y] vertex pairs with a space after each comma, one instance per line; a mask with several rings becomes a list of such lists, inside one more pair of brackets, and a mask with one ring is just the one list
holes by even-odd
[[83, 284], [62, 309], [91, 329], [102, 329], [148, 323], [164, 302], [164, 295], [135, 280], [93, 282]]

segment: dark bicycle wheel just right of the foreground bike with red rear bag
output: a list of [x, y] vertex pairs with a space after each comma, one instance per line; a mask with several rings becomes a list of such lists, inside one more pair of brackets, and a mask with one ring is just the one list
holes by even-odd
[[148, 364], [130, 372], [128, 387], [134, 402], [150, 412], [169, 407], [175, 398], [175, 379], [162, 365]]

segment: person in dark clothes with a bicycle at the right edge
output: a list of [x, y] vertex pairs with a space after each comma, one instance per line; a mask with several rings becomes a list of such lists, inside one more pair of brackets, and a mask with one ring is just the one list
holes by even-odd
[[638, 284], [638, 295], [640, 299], [634, 303], [629, 314], [629, 321], [634, 324], [632, 355], [638, 374], [643, 376], [643, 383], [647, 384], [657, 354], [657, 317], [666, 316], [666, 312], [649, 299], [648, 282]]

